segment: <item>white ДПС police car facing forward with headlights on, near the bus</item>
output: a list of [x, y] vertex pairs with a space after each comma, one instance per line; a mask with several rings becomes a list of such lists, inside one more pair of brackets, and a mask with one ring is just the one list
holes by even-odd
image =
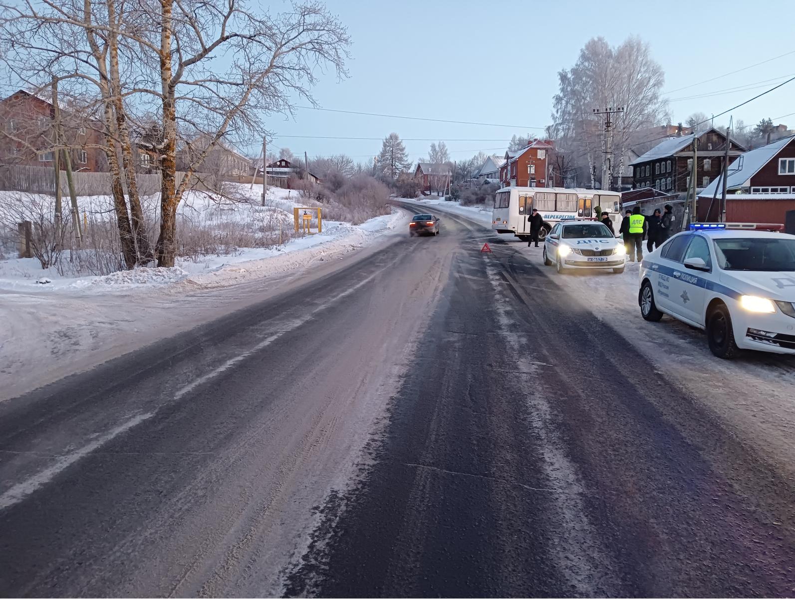
[[626, 247], [602, 223], [595, 220], [564, 220], [544, 239], [544, 264], [557, 271], [572, 268], [611, 268], [622, 273]]

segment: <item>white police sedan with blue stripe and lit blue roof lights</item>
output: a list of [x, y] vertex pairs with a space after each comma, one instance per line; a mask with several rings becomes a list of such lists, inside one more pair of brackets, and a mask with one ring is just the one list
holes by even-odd
[[795, 354], [795, 236], [698, 224], [641, 263], [638, 304], [705, 329], [712, 353]]

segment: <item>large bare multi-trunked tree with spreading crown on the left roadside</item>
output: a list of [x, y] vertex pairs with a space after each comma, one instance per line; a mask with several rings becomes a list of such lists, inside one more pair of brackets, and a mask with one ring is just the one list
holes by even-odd
[[[3, 49], [17, 49], [18, 72], [30, 80], [41, 72], [23, 64], [23, 44], [46, 71], [72, 72], [95, 88], [122, 246], [133, 240], [144, 255], [146, 244], [134, 241], [133, 229], [140, 231], [142, 223], [135, 213], [129, 122], [136, 114], [158, 116], [158, 266], [174, 265], [176, 209], [207, 154], [222, 139], [262, 138], [266, 115], [289, 113], [295, 99], [313, 102], [312, 85], [325, 68], [347, 76], [347, 30], [320, 2], [296, 4], [275, 15], [245, 0], [23, 0], [0, 4], [0, 11]], [[178, 181], [177, 152], [196, 138], [209, 141], [204, 150], [188, 153], [186, 176]], [[133, 224], [122, 169], [129, 180]]]

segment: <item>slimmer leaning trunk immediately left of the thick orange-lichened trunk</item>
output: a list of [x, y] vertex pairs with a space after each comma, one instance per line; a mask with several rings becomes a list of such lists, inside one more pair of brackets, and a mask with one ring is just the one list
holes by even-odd
[[126, 111], [122, 102], [122, 84], [118, 75], [118, 40], [114, 33], [116, 24], [116, 9], [114, 0], [107, 0], [108, 21], [111, 31], [108, 33], [107, 42], [110, 56], [111, 98], [113, 99], [116, 117], [118, 142], [122, 150], [122, 166], [127, 181], [127, 196], [130, 199], [130, 224], [137, 249], [138, 260], [142, 264], [152, 262], [154, 259], [149, 238], [146, 236], [141, 198], [138, 196], [138, 180], [135, 173], [132, 143], [130, 142], [130, 127], [127, 126]]

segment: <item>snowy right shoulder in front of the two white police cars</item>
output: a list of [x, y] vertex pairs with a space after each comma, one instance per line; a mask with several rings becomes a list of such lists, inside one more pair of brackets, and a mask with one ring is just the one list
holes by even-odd
[[[541, 248], [520, 245], [546, 276], [571, 291], [600, 321], [626, 337], [658, 371], [677, 380], [735, 430], [750, 431], [755, 445], [795, 475], [795, 358], [744, 352], [720, 360], [704, 333], [665, 316], [646, 322], [638, 307], [640, 264], [622, 274], [609, 270], [557, 274], [541, 262]], [[747, 435], [743, 435], [747, 437]]]

